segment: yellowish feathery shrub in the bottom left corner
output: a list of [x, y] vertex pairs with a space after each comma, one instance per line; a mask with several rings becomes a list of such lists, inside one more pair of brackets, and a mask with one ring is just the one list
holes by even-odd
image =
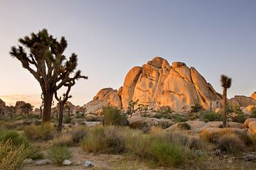
[[0, 142], [0, 169], [21, 169], [23, 160], [28, 156], [28, 149], [23, 142], [15, 146], [11, 139]]

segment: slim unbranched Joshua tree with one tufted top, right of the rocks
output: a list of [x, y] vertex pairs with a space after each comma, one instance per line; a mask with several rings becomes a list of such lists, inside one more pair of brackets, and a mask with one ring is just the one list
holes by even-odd
[[231, 86], [232, 79], [225, 76], [221, 75], [220, 77], [220, 83], [221, 86], [223, 87], [223, 128], [226, 127], [227, 124], [227, 89], [230, 88]]

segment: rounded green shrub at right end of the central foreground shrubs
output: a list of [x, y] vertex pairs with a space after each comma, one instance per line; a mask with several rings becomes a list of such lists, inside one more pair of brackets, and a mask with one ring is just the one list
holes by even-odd
[[161, 166], [181, 164], [185, 158], [184, 150], [181, 147], [164, 140], [152, 140], [148, 150], [150, 159], [153, 159]]

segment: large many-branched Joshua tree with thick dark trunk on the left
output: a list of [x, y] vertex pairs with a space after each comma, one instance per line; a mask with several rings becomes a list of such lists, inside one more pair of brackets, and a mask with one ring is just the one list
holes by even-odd
[[65, 38], [60, 38], [58, 42], [46, 29], [31, 33], [30, 37], [26, 36], [18, 41], [22, 46], [11, 47], [10, 54], [39, 82], [43, 93], [43, 123], [46, 123], [50, 121], [53, 94], [68, 82], [82, 78], [80, 70], [73, 74], [78, 57], [73, 53], [67, 59], [63, 55], [68, 46]]

